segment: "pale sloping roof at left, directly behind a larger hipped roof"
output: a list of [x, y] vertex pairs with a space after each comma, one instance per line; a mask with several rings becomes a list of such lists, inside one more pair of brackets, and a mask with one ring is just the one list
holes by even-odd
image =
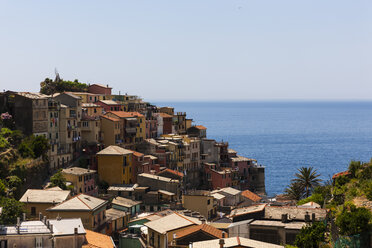
[[28, 189], [19, 200], [30, 203], [61, 203], [70, 196], [69, 190]]

